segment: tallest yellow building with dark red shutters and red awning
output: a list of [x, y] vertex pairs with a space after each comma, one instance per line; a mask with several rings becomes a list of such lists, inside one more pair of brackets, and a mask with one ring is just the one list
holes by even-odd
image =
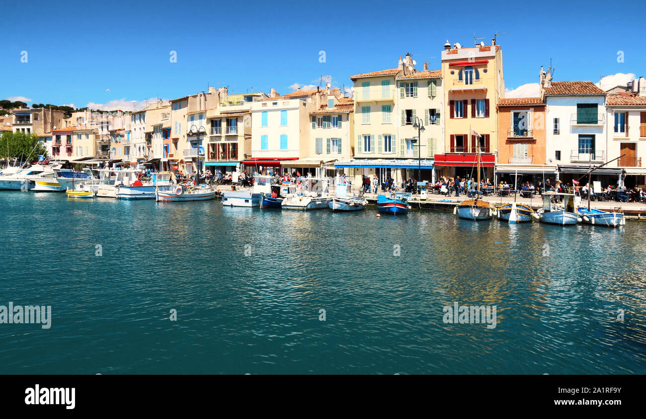
[[438, 175], [476, 178], [479, 146], [483, 154], [481, 177], [494, 178], [497, 151], [498, 99], [505, 96], [503, 54], [499, 45], [453, 47], [442, 52], [444, 79], [444, 147], [435, 156]]

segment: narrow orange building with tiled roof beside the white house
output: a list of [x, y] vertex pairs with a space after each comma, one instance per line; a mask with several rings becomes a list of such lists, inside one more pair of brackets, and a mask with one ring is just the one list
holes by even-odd
[[[518, 182], [553, 178], [555, 165], [545, 165], [545, 101], [541, 97], [507, 97], [498, 101], [498, 158], [495, 178]], [[550, 175], [550, 176], [548, 176]], [[522, 177], [521, 177], [522, 176]]]

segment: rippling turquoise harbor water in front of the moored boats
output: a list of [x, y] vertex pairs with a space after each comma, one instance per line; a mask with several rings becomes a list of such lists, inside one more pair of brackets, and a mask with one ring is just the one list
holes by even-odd
[[646, 373], [646, 223], [0, 199], [0, 305], [52, 306], [0, 324], [0, 373]]

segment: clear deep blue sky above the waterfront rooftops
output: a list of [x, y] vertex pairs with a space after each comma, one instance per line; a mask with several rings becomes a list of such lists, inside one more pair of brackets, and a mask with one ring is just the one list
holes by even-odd
[[495, 32], [506, 32], [497, 40], [508, 89], [536, 83], [550, 58], [555, 80], [646, 73], [641, 31], [629, 12], [641, 10], [638, 1], [38, 3], [3, 5], [1, 99], [125, 108], [208, 85], [233, 94], [286, 93], [329, 75], [335, 87], [348, 87], [352, 74], [393, 68], [406, 52], [419, 69], [423, 61], [439, 68], [446, 39], [473, 46], [475, 33], [490, 45]]

